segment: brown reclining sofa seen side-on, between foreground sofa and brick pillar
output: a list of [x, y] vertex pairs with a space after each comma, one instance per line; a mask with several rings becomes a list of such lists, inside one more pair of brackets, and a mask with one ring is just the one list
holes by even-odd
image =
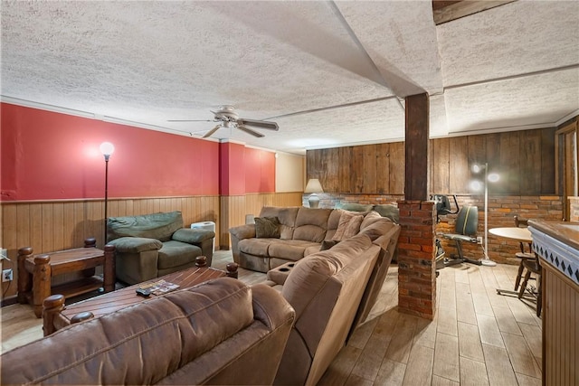
[[382, 218], [331, 249], [268, 272], [268, 284], [296, 310], [275, 384], [319, 381], [374, 306], [399, 234], [399, 225]]

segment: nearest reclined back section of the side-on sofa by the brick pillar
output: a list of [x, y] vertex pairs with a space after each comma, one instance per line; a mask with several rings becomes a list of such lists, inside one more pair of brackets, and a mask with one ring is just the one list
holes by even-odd
[[356, 235], [291, 270], [281, 295], [296, 311], [296, 322], [275, 384], [319, 380], [346, 341], [379, 251], [366, 235]]

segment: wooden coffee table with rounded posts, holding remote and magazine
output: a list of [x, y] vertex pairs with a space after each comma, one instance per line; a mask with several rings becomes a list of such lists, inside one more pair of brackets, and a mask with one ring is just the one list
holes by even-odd
[[93, 317], [100, 317], [118, 311], [128, 306], [134, 306], [147, 299], [157, 296], [140, 297], [136, 290], [147, 283], [164, 279], [179, 286], [179, 289], [192, 287], [212, 278], [228, 276], [237, 278], [237, 264], [227, 265], [227, 271], [206, 266], [206, 258], [200, 256], [195, 261], [195, 267], [174, 272], [160, 278], [153, 278], [134, 286], [124, 287], [99, 297], [92, 297], [70, 306], [64, 306], [62, 295], [52, 295], [43, 302], [43, 331], [44, 336], [50, 335], [67, 325], [79, 323]]

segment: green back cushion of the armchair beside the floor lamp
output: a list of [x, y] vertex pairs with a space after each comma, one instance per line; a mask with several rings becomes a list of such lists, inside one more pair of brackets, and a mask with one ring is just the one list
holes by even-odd
[[177, 230], [183, 228], [181, 212], [151, 213], [140, 216], [109, 217], [107, 237], [142, 237], [160, 241], [171, 240]]

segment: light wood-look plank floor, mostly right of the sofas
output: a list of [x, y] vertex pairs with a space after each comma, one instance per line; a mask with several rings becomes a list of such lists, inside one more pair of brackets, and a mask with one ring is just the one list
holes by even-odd
[[[224, 268], [231, 251], [217, 251]], [[368, 320], [337, 355], [323, 385], [540, 385], [541, 319], [535, 304], [500, 296], [517, 267], [461, 264], [440, 270], [433, 321], [397, 311], [393, 265]], [[253, 285], [265, 275], [240, 269]], [[2, 352], [41, 338], [42, 320], [30, 306], [5, 306]]]

